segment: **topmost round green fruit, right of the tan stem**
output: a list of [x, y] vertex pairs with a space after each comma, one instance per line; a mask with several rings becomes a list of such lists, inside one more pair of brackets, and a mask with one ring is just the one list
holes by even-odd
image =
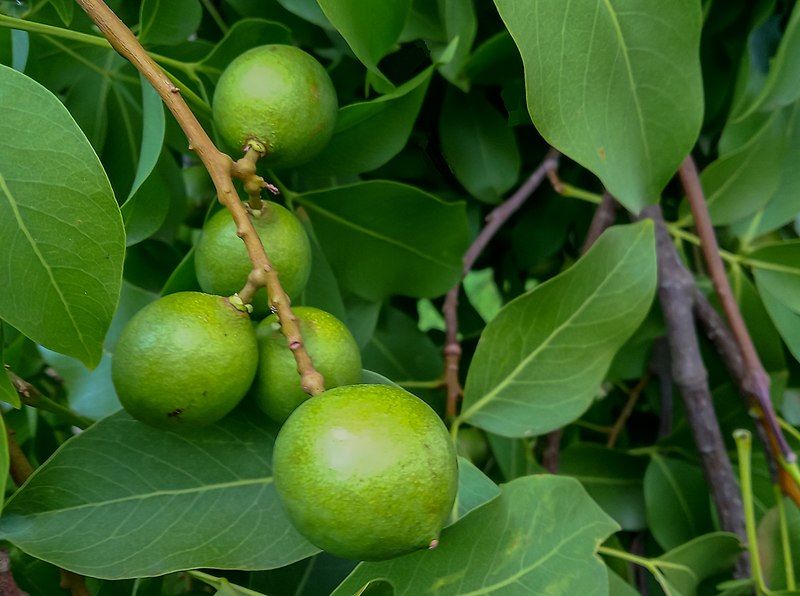
[[[248, 50], [222, 73], [214, 123], [232, 150], [248, 140], [266, 148], [270, 167], [308, 161], [330, 141], [338, 101], [331, 78], [310, 54], [272, 44]], [[235, 154], [235, 153], [234, 153]]]

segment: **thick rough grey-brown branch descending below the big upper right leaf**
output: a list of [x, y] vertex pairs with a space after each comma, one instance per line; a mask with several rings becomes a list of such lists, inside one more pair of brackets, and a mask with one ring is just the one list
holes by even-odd
[[[686, 406], [686, 419], [692, 429], [720, 525], [746, 540], [744, 509], [725, 442], [719, 428], [708, 374], [700, 354], [700, 344], [692, 318], [694, 277], [683, 266], [667, 232], [658, 205], [642, 211], [655, 223], [658, 262], [658, 295], [667, 327], [672, 377]], [[742, 557], [737, 577], [749, 577], [749, 562]]]

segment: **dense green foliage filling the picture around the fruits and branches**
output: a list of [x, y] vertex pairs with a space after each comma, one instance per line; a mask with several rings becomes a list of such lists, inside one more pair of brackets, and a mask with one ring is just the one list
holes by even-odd
[[[446, 420], [458, 494], [437, 548], [345, 560], [290, 522], [273, 482], [279, 427], [255, 400], [188, 433], [120, 411], [122, 330], [160, 296], [200, 290], [196, 248], [221, 207], [161, 98], [78, 5], [0, 0], [0, 586], [800, 593], [800, 509], [779, 486], [800, 494], [797, 467], [774, 443], [754, 440], [751, 453], [743, 433], [734, 441], [736, 429], [763, 430], [739, 395], [744, 365], [703, 333], [692, 360], [675, 340], [677, 286], [663, 283], [674, 246], [692, 274], [678, 315], [693, 329], [695, 284], [719, 306], [675, 178], [691, 154], [713, 256], [800, 450], [800, 4], [108, 4], [227, 151], [212, 100], [237, 56], [293, 44], [325, 67], [339, 104], [330, 142], [305, 163], [293, 154], [291, 168], [259, 170], [308, 235], [310, 275], [293, 304], [346, 323], [361, 382], [399, 385]], [[463, 271], [487, 215], [515, 199]], [[452, 365], [456, 329], [443, 307], [459, 284], [463, 396], [448, 417], [443, 352]], [[181, 374], [230, 372], [208, 354], [207, 369]], [[698, 413], [703, 392], [713, 408]], [[22, 486], [26, 460], [37, 469]], [[733, 500], [713, 474], [740, 483]]]

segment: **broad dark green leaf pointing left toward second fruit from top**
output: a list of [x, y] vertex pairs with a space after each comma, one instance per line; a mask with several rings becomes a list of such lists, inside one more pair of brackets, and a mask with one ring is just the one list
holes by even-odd
[[432, 298], [458, 280], [468, 242], [463, 203], [382, 180], [295, 198], [340, 285], [370, 300]]

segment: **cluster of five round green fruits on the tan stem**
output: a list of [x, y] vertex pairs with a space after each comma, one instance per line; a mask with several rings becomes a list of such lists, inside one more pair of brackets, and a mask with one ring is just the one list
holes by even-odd
[[[272, 165], [294, 166], [330, 139], [336, 94], [324, 68], [294, 47], [245, 52], [220, 78], [215, 125], [231, 148], [256, 142]], [[250, 217], [291, 298], [311, 271], [303, 225], [263, 203]], [[295, 307], [305, 348], [327, 391], [309, 399], [295, 359], [269, 313], [265, 291], [252, 315], [227, 296], [250, 272], [232, 219], [206, 222], [195, 251], [200, 287], [160, 298], [124, 329], [113, 360], [120, 402], [136, 419], [203, 432], [247, 396], [282, 428], [275, 486], [297, 529], [333, 554], [364, 560], [435, 546], [455, 499], [455, 451], [441, 419], [399, 387], [358, 384], [355, 339], [333, 315]], [[200, 430], [198, 430], [200, 429]]]

